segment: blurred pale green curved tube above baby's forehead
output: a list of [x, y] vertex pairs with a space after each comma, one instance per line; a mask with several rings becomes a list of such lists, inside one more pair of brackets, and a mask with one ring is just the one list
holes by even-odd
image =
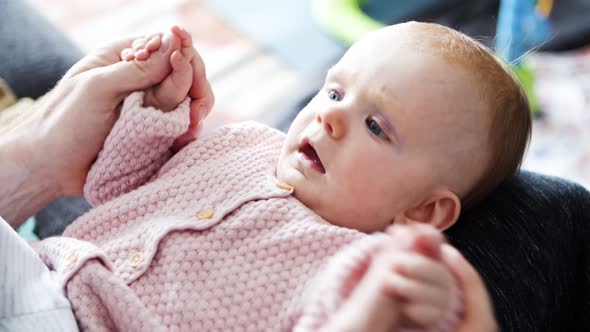
[[313, 16], [318, 24], [350, 46], [385, 25], [363, 12], [361, 0], [315, 0]]

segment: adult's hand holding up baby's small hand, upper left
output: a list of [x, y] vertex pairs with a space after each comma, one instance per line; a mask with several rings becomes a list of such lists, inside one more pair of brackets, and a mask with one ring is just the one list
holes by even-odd
[[[29, 126], [33, 132], [29, 170], [43, 170], [60, 185], [61, 195], [79, 195], [88, 169], [118, 115], [119, 104], [130, 92], [161, 82], [170, 72], [169, 61], [173, 34], [145, 37], [146, 43], [159, 47], [145, 61], [120, 61], [123, 49], [132, 46], [136, 37], [125, 38], [102, 47], [72, 67], [49, 93], [42, 104], [41, 117]], [[160, 45], [161, 43], [161, 45]], [[161, 47], [160, 47], [161, 46]], [[157, 48], [156, 48], [157, 49]], [[194, 138], [202, 119], [213, 107], [214, 97], [206, 79], [201, 57], [192, 62], [193, 84], [189, 92], [191, 125], [176, 146]], [[147, 71], [146, 66], [152, 69]], [[153, 66], [159, 66], [153, 70]]]

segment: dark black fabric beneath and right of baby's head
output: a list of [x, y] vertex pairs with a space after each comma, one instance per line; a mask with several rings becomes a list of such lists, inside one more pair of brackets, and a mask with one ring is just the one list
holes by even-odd
[[483, 276], [502, 331], [590, 331], [590, 194], [521, 172], [446, 233]]

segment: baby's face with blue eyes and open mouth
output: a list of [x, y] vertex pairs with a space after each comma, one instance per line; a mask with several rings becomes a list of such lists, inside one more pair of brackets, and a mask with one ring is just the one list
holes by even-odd
[[474, 119], [463, 114], [478, 103], [470, 84], [405, 34], [372, 34], [330, 69], [294, 120], [277, 176], [328, 222], [384, 230], [438, 189], [466, 190], [446, 174], [456, 172], [454, 154], [477, 130], [466, 129]]

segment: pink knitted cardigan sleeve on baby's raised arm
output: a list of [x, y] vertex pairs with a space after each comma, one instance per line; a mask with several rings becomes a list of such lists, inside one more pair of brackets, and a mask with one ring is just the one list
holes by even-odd
[[144, 107], [143, 92], [129, 95], [86, 178], [84, 194], [93, 206], [145, 184], [172, 157], [170, 147], [189, 126], [187, 97], [175, 110]]

